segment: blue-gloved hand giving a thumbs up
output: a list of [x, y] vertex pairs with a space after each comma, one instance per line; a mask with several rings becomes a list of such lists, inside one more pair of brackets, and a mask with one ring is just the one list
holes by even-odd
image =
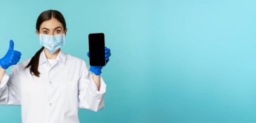
[[13, 50], [13, 40], [10, 40], [9, 42], [9, 50], [3, 56], [3, 58], [0, 59], [0, 65], [3, 69], [8, 69], [11, 65], [16, 65], [20, 61], [20, 56], [22, 56], [22, 53], [16, 50]]

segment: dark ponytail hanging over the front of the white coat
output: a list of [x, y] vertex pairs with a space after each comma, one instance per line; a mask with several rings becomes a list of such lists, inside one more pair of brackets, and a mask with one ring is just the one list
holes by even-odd
[[40, 75], [40, 72], [38, 71], [38, 65], [42, 50], [44, 50], [44, 46], [42, 46], [42, 48], [40, 48], [40, 50], [38, 50], [36, 54], [34, 54], [34, 56], [30, 60], [30, 63], [28, 63], [28, 65], [25, 67], [25, 69], [30, 67], [30, 74], [34, 74], [36, 77], [39, 77]]

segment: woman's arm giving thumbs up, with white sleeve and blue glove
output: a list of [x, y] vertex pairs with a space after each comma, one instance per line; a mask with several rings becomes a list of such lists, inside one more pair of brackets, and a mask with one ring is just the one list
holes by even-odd
[[[9, 41], [9, 49], [5, 56], [0, 59], [0, 104], [20, 105], [20, 84], [18, 84], [18, 67], [16, 64], [20, 60], [21, 52], [13, 50], [13, 40]], [[6, 70], [11, 65], [11, 75], [6, 74]]]

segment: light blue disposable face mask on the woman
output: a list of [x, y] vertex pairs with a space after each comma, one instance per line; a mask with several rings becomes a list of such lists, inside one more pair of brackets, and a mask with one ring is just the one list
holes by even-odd
[[47, 48], [51, 54], [54, 54], [61, 46], [65, 45], [65, 34], [61, 35], [44, 35], [40, 34], [40, 45]]

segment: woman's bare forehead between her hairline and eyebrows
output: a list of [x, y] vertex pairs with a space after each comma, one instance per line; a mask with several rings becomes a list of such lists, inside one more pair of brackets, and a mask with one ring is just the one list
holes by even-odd
[[42, 30], [42, 28], [54, 30], [57, 27], [61, 27], [63, 29], [63, 25], [61, 24], [61, 22], [59, 22], [58, 19], [52, 18], [42, 22], [42, 24], [40, 25], [40, 30]]

